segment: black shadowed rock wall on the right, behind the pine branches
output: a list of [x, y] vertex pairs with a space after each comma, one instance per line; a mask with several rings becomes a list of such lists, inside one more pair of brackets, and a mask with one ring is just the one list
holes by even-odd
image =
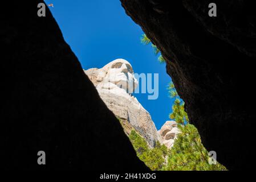
[[[121, 0], [159, 47], [190, 123], [228, 169], [253, 165], [256, 12], [249, 1]], [[149, 63], [150, 64], [150, 63]], [[167, 101], [166, 101], [167, 102]]]

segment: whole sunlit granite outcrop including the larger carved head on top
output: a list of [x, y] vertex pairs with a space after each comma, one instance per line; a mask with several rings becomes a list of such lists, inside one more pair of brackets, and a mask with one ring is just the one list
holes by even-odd
[[[137, 85], [131, 64], [123, 59], [111, 61], [103, 68], [84, 71], [96, 86], [108, 108], [122, 121], [128, 121], [150, 144], [155, 146], [160, 136], [151, 115], [129, 94]], [[129, 128], [130, 129], [130, 128]], [[128, 134], [130, 130], [125, 130]]]

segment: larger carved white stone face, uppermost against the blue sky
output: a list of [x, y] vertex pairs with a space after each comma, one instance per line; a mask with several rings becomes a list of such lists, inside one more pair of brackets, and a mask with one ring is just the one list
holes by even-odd
[[111, 82], [119, 88], [125, 89], [128, 93], [132, 93], [136, 86], [137, 80], [134, 77], [132, 65], [124, 60], [117, 59], [105, 65], [103, 70], [106, 72], [103, 82]]

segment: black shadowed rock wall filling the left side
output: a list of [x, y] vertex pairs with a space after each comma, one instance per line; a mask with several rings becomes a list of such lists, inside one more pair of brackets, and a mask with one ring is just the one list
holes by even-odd
[[1, 168], [148, 169], [39, 2], [1, 5]]

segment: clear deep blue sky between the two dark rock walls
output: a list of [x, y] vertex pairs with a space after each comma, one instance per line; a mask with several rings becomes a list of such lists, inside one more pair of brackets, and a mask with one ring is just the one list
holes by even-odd
[[148, 94], [135, 94], [160, 129], [172, 111], [173, 100], [166, 86], [171, 81], [165, 64], [157, 61], [151, 46], [140, 42], [143, 31], [125, 14], [119, 0], [46, 0], [59, 24], [66, 42], [78, 57], [83, 69], [101, 68], [122, 58], [140, 73], [159, 73], [159, 98], [148, 100]]

